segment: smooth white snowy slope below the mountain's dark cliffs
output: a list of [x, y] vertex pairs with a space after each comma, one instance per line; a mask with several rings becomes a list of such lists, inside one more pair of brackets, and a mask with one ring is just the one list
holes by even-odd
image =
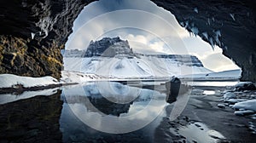
[[104, 77], [172, 77], [212, 72], [203, 66], [156, 56], [64, 58], [64, 70]]

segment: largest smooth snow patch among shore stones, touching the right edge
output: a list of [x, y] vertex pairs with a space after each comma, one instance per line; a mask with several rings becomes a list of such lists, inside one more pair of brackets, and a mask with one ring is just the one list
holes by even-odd
[[247, 101], [241, 101], [239, 103], [236, 103], [233, 108], [235, 109], [245, 109], [245, 110], [251, 110], [253, 112], [256, 112], [256, 100], [247, 100]]

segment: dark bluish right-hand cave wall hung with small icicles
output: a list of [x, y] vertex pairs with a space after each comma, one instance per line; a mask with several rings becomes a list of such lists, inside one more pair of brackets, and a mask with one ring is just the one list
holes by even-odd
[[242, 79], [256, 81], [256, 12], [253, 0], [151, 0], [172, 12], [188, 31], [224, 49], [242, 68]]

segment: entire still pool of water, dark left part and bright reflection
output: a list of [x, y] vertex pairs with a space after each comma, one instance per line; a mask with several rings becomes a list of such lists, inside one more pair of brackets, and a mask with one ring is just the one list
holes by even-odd
[[[167, 103], [165, 85], [153, 87], [94, 82], [38, 91], [38, 95], [4, 94], [0, 96], [0, 141], [218, 142], [224, 139], [203, 123], [198, 123], [199, 128], [178, 118], [189, 100], [189, 91], [180, 94], [176, 102]], [[212, 136], [209, 130], [217, 135]]]

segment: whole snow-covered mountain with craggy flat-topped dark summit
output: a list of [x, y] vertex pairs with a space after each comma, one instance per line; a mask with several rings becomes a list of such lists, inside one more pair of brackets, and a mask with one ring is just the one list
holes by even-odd
[[106, 77], [172, 77], [210, 73], [189, 54], [134, 53], [128, 41], [104, 37], [90, 42], [87, 50], [66, 50], [64, 70], [95, 73]]

